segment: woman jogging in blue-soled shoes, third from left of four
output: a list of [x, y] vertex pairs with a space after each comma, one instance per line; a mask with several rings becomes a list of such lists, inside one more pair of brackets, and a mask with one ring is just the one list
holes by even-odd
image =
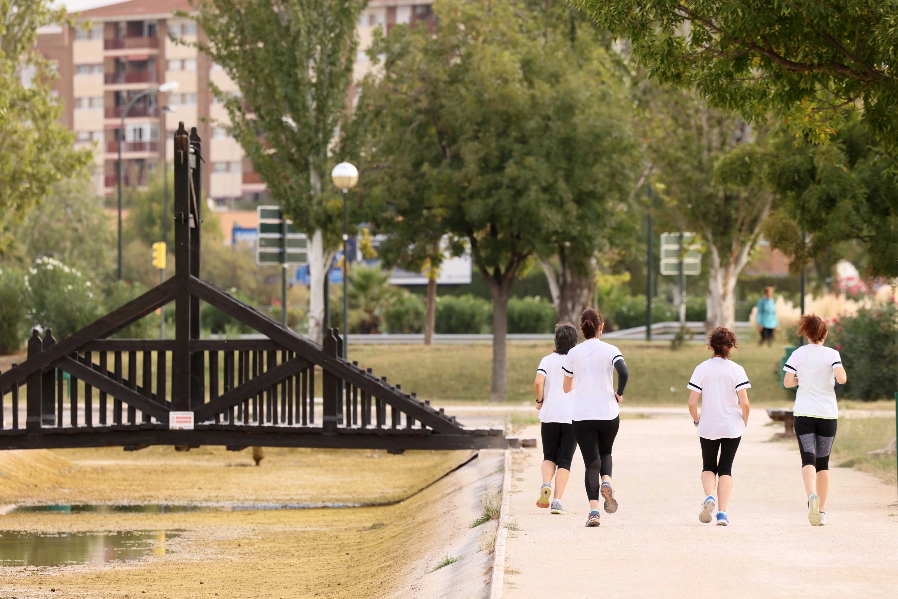
[[699, 429], [701, 444], [701, 486], [705, 489], [705, 500], [699, 520], [708, 524], [714, 508], [718, 507], [718, 525], [726, 526], [729, 524], [726, 505], [733, 490], [733, 460], [748, 425], [751, 410], [748, 389], [752, 383], [749, 383], [745, 369], [729, 359], [730, 351], [736, 347], [732, 330], [718, 327], [711, 331], [708, 346], [714, 350], [714, 356], [695, 367], [686, 385], [690, 390], [689, 412], [692, 423]]

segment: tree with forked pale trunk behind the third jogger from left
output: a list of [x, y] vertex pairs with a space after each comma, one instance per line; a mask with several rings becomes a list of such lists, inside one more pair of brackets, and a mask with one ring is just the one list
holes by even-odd
[[706, 326], [733, 328], [735, 283], [761, 236], [773, 193], [766, 129], [710, 108], [690, 92], [657, 93], [649, 152], [667, 216], [699, 233], [710, 276]]

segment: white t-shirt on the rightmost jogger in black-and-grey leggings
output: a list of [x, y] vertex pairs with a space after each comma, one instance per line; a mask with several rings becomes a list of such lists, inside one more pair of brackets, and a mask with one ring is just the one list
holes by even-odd
[[816, 343], [803, 345], [792, 352], [783, 370], [795, 374], [798, 379], [793, 409], [796, 416], [839, 418], [834, 371], [841, 365], [838, 351]]

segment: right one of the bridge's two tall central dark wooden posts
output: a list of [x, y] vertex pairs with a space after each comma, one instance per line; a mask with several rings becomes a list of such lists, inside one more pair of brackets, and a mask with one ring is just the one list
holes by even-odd
[[[190, 214], [193, 225], [190, 227], [190, 262], [189, 272], [199, 277], [199, 230], [202, 223], [202, 144], [197, 135], [197, 128], [190, 128]], [[199, 298], [190, 295], [190, 339], [199, 339]], [[190, 410], [195, 410], [206, 402], [206, 352], [197, 351], [190, 355]]]

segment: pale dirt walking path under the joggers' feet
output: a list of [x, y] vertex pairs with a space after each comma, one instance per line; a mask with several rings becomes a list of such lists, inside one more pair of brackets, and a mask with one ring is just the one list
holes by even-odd
[[[517, 452], [510, 515], [520, 530], [509, 531], [505, 596], [894, 597], [894, 487], [833, 468], [827, 525], [812, 527], [797, 448], [770, 442], [779, 427], [762, 426], [762, 410], [752, 416], [735, 458], [727, 527], [699, 522], [701, 455], [688, 416], [621, 420], [613, 476], [620, 509], [603, 512], [599, 528], [584, 526], [579, 451], [568, 515], [535, 506], [541, 446]], [[539, 437], [539, 427], [522, 436]]]

